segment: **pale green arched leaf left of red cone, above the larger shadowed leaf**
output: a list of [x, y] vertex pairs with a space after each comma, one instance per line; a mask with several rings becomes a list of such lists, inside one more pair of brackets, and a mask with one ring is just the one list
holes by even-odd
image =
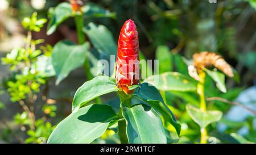
[[90, 100], [113, 91], [118, 91], [118, 87], [115, 85], [115, 81], [108, 76], [98, 76], [85, 82], [76, 91], [72, 103], [72, 112], [76, 112]]

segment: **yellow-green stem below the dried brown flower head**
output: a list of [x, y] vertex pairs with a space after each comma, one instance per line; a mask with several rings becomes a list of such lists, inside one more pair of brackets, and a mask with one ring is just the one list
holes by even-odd
[[[200, 97], [200, 110], [201, 111], [206, 111], [207, 106], [205, 102], [205, 96], [204, 96], [204, 83], [205, 83], [205, 73], [201, 72], [199, 74], [200, 81], [197, 84], [197, 93], [199, 94]], [[207, 144], [207, 129], [206, 128], [201, 128], [201, 144]]]

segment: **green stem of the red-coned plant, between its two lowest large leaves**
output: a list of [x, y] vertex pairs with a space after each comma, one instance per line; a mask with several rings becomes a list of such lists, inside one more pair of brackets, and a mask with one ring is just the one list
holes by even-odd
[[[119, 113], [118, 113], [119, 118], [123, 118], [121, 106], [122, 105], [120, 104]], [[127, 139], [127, 135], [126, 135], [126, 121], [125, 121], [125, 119], [118, 121], [118, 136], [120, 138], [121, 144], [128, 144], [129, 143], [129, 141]]]

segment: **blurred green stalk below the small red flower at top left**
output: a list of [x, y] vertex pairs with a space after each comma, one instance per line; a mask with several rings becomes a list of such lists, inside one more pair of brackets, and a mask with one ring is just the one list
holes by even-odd
[[[75, 13], [75, 23], [76, 23], [76, 32], [77, 32], [77, 40], [78, 43], [84, 44], [85, 43], [85, 33], [82, 31], [82, 28], [84, 27], [84, 18], [83, 14]], [[85, 74], [88, 80], [92, 79], [92, 73], [90, 73], [90, 62], [88, 60], [88, 57], [86, 56], [85, 62], [84, 62], [84, 70]], [[97, 104], [102, 103], [101, 98], [98, 97], [95, 99]]]

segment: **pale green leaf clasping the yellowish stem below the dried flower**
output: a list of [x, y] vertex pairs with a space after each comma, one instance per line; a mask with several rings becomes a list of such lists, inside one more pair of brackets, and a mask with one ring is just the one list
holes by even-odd
[[193, 121], [199, 124], [201, 128], [205, 128], [213, 122], [218, 122], [222, 118], [221, 111], [202, 111], [191, 104], [186, 105], [186, 110]]

